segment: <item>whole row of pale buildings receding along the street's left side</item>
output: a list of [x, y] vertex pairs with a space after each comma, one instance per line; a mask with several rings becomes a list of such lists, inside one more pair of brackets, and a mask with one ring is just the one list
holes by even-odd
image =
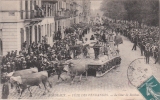
[[60, 30], [63, 36], [65, 28], [86, 22], [90, 8], [87, 1], [0, 0], [0, 55], [21, 50], [25, 41], [28, 46], [41, 42], [42, 36], [47, 36], [47, 42], [53, 45], [55, 32]]

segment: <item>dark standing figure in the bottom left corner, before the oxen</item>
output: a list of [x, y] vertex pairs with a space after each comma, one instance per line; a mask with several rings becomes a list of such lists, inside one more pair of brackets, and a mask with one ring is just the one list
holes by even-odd
[[5, 77], [4, 82], [5, 83], [3, 84], [3, 87], [2, 87], [2, 99], [8, 99], [9, 85], [8, 85], [7, 77]]

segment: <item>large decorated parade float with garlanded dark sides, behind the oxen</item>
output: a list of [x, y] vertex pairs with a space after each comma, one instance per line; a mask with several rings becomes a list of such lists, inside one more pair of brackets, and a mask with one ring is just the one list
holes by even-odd
[[89, 45], [81, 44], [71, 46], [72, 50], [80, 50], [80, 48], [89, 47], [94, 50], [94, 53], [89, 56], [86, 55], [86, 57], [77, 57], [73, 54], [74, 57], [69, 60], [69, 62], [72, 62], [75, 66], [79, 67], [86, 66], [88, 68], [88, 76], [102, 77], [121, 64], [121, 57], [115, 48], [111, 47], [109, 49], [112, 49], [113, 51], [108, 52], [110, 54], [104, 55], [104, 43], [96, 43], [96, 41], [90, 41]]

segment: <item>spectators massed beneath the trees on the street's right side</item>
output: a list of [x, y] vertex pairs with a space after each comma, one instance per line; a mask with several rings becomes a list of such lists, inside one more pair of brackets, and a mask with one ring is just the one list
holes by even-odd
[[159, 43], [159, 28], [151, 26], [138, 26], [134, 22], [111, 22], [113, 26], [122, 35], [126, 36], [133, 42], [132, 50], [140, 48], [141, 56], [145, 56], [146, 63], [149, 64], [150, 57], [155, 59], [155, 64], [160, 59], [160, 43]]

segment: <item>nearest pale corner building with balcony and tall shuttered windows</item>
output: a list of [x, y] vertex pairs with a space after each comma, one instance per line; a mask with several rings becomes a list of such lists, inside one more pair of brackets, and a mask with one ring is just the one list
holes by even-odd
[[56, 3], [50, 0], [1, 0], [1, 55], [21, 50], [24, 41], [27, 45], [42, 41], [45, 35], [52, 44]]

